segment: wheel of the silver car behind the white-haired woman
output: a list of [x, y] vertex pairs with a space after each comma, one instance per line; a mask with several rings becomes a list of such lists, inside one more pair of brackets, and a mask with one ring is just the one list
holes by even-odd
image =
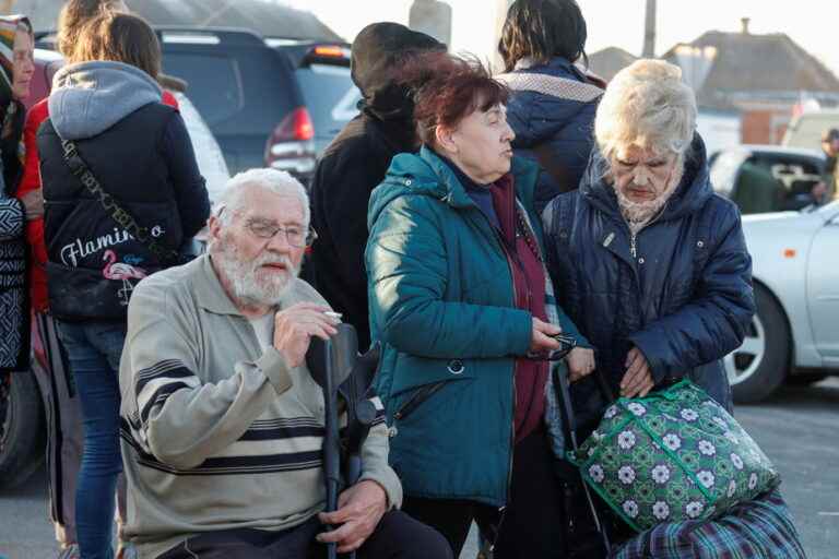
[[757, 313], [743, 344], [724, 359], [734, 401], [759, 402], [783, 383], [790, 364], [790, 329], [764, 287], [755, 286]]

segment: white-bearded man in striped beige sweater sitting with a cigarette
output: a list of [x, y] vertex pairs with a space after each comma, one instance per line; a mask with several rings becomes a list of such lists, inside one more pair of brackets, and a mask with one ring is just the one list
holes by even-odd
[[[359, 483], [321, 512], [323, 397], [305, 356], [312, 336], [336, 331], [297, 278], [308, 209], [285, 173], [237, 175], [210, 218], [209, 253], [134, 290], [120, 386], [126, 535], [141, 557], [319, 557], [316, 538], [362, 558], [451, 557], [394, 510], [402, 489], [381, 423]], [[321, 522], [338, 527], [318, 534]]]

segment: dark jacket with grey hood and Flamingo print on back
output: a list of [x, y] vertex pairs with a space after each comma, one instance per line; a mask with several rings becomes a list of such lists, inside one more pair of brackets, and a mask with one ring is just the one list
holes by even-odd
[[[137, 282], [175, 262], [117, 226], [110, 201], [176, 250], [206, 222], [204, 179], [184, 120], [142, 70], [84, 62], [54, 82], [37, 135], [50, 309], [63, 320], [125, 320]], [[62, 140], [76, 144], [106, 195], [94, 198], [70, 171]]]

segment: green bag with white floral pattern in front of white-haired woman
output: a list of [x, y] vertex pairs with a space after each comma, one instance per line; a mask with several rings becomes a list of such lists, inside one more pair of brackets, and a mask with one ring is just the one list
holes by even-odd
[[569, 460], [638, 532], [722, 514], [780, 483], [740, 424], [689, 381], [618, 400]]

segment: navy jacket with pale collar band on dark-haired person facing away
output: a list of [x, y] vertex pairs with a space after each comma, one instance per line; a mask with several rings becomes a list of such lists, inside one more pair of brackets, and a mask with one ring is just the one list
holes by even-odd
[[[537, 64], [511, 72], [517, 74], [543, 74], [554, 78], [559, 95], [512, 86], [513, 95], [507, 104], [507, 119], [516, 132], [512, 146], [516, 155], [535, 160], [532, 148], [546, 144], [565, 169], [569, 189], [576, 189], [594, 145], [594, 112], [600, 95], [580, 95], [579, 86], [596, 90], [588, 84], [586, 76], [564, 58], [555, 58], [547, 64]], [[570, 82], [570, 83], [569, 83]], [[595, 98], [591, 98], [596, 95]], [[579, 100], [590, 99], [590, 100]], [[567, 190], [567, 189], [566, 189]], [[560, 192], [559, 186], [546, 173], [536, 185], [535, 205], [539, 212]]]

